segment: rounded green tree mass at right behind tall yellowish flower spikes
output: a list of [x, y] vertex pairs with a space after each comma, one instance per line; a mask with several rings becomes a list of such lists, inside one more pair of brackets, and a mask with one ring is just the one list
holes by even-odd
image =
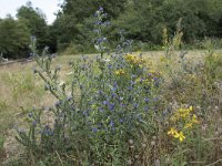
[[182, 18], [184, 41], [191, 42], [205, 35], [213, 37], [213, 33], [219, 32], [213, 29], [220, 25], [220, 21], [215, 20], [221, 17], [216, 8], [220, 3], [210, 0], [133, 1], [129, 3], [125, 13], [117, 20], [117, 24], [125, 29], [131, 39], [160, 44], [161, 30], [167, 27], [173, 37], [174, 24]]

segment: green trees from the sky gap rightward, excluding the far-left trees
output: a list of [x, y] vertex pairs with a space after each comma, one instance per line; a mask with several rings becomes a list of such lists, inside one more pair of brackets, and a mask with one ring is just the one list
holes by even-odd
[[205, 37], [221, 37], [220, 0], [122, 0], [118, 2], [68, 0], [62, 4], [62, 12], [58, 13], [53, 24], [59, 35], [59, 45], [63, 45], [61, 49], [73, 43], [90, 50], [89, 43], [92, 43], [93, 39], [90, 38], [92, 12], [99, 7], [103, 7], [109, 13], [109, 19], [113, 20], [112, 27], [107, 32], [107, 37], [112, 39], [112, 45], [117, 44], [118, 33], [123, 29], [128, 39], [149, 45], [143, 46], [144, 49], [159, 48], [160, 50], [160, 46], [155, 45], [162, 44], [162, 29], [167, 27], [172, 38], [175, 31], [174, 24], [180, 18], [184, 33], [183, 41], [188, 44], [192, 44], [195, 40], [203, 40]]

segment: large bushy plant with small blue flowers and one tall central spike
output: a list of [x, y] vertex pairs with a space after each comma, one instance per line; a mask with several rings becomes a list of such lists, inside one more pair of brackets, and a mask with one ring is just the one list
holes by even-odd
[[120, 51], [124, 50], [120, 45], [117, 52], [105, 53], [102, 29], [109, 23], [104, 17], [100, 8], [95, 24], [100, 55], [69, 62], [70, 83], [61, 83], [60, 68], [53, 70], [49, 55], [36, 53], [32, 39], [39, 65], [34, 73], [58, 100], [48, 108], [53, 124], [41, 118], [42, 110], [33, 110], [29, 132], [18, 131], [17, 139], [34, 155], [57, 152], [70, 165], [73, 160], [75, 165], [128, 165], [140, 160], [144, 136], [154, 134], [161, 77], [149, 73], [142, 55]]

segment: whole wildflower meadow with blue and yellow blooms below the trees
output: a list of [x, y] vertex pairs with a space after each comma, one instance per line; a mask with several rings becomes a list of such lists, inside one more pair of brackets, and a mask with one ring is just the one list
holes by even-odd
[[181, 21], [162, 51], [110, 49], [95, 12], [97, 54], [37, 50], [0, 66], [4, 166], [215, 166], [222, 162], [222, 51], [183, 50]]

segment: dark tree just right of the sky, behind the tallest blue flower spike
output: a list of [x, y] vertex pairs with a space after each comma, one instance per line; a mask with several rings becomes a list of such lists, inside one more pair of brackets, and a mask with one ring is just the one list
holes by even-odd
[[58, 35], [59, 45], [62, 49], [70, 43], [89, 44], [89, 32], [92, 30], [90, 22], [93, 13], [102, 7], [108, 13], [108, 19], [117, 19], [124, 12], [128, 0], [64, 0], [62, 11], [53, 23]]

